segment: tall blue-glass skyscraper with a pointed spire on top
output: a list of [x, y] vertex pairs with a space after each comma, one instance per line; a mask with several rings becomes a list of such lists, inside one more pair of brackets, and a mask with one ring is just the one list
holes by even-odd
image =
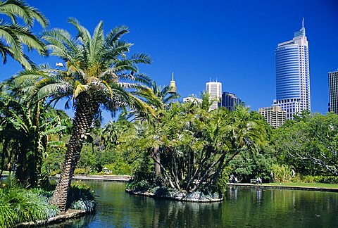
[[304, 18], [301, 30], [294, 38], [278, 44], [276, 58], [276, 103], [287, 111], [287, 119], [295, 113], [311, 110], [310, 72], [308, 65], [308, 40]]

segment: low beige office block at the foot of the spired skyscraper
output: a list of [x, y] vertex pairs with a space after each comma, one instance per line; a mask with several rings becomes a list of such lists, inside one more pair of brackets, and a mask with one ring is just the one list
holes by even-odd
[[280, 106], [259, 108], [258, 113], [263, 115], [266, 122], [273, 127], [280, 127], [287, 120], [287, 112], [282, 110]]

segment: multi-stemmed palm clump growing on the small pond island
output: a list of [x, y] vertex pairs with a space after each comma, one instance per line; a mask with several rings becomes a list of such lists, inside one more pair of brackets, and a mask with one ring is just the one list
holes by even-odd
[[[265, 127], [246, 108], [208, 112], [194, 103], [173, 103], [155, 123], [135, 123], [127, 132], [128, 148], [147, 153], [161, 178], [139, 170], [134, 182], [147, 180], [177, 191], [216, 191], [225, 167], [239, 153], [254, 153], [265, 142]], [[134, 137], [130, 135], [134, 132]], [[158, 153], [158, 154], [157, 154]], [[147, 159], [147, 158], [146, 158]], [[151, 163], [150, 163], [151, 164]], [[156, 164], [156, 165], [155, 165]], [[150, 179], [146, 179], [150, 177]], [[219, 190], [219, 189], [218, 189]]]

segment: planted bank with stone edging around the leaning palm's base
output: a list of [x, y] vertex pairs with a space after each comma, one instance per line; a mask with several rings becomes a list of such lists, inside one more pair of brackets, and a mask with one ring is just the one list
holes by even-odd
[[87, 213], [94, 213], [94, 191], [83, 182], [70, 186], [68, 210], [61, 212], [50, 203], [55, 185], [25, 189], [14, 175], [0, 180], [0, 227], [29, 227], [60, 222]]

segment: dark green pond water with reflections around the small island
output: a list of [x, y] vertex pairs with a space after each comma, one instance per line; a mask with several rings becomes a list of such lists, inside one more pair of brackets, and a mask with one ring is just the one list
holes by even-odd
[[95, 215], [51, 227], [338, 227], [338, 194], [230, 187], [225, 201], [189, 203], [132, 196], [125, 184], [86, 182]]

